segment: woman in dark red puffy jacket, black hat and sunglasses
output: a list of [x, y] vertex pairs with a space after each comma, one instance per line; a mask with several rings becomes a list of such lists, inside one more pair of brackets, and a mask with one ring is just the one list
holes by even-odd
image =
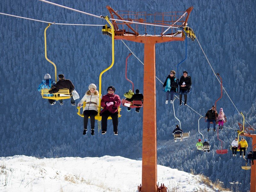
[[105, 134], [107, 132], [107, 120], [111, 116], [113, 122], [114, 134], [117, 135], [117, 126], [118, 126], [118, 107], [121, 105], [121, 100], [119, 95], [115, 94], [115, 87], [108, 87], [108, 94], [104, 95], [101, 99], [100, 105], [103, 109], [100, 111], [102, 132]]

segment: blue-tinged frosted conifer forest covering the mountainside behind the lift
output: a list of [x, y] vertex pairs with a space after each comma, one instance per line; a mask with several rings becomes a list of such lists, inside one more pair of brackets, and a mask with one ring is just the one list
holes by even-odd
[[[183, 11], [193, 6], [188, 19], [207, 54], [215, 72], [220, 73], [223, 86], [239, 111], [243, 111], [250, 124], [255, 125], [255, 2], [254, 1], [53, 1], [95, 15], [109, 15], [106, 5], [114, 10], [145, 11], [147, 13]], [[3, 13], [58, 23], [106, 24], [106, 21], [78, 12], [45, 4], [40, 1], [0, 2]], [[102, 136], [82, 135], [83, 119], [69, 100], [60, 106], [50, 106], [41, 98], [37, 87], [49, 73], [54, 78], [54, 68], [44, 58], [44, 28], [46, 23], [0, 16], [0, 156], [26, 155], [36, 157], [62, 156], [124, 156], [141, 158], [142, 115], [134, 110], [121, 111], [118, 136], [111, 132]], [[150, 32], [148, 32], [149, 34]], [[101, 27], [52, 25], [47, 30], [47, 55], [57, 66], [58, 74], [70, 79], [80, 97], [94, 83], [99, 87], [99, 74], [111, 63], [111, 39], [103, 36]], [[143, 61], [143, 44], [125, 42]], [[102, 93], [113, 85], [116, 94], [127, 92], [131, 85], [125, 80], [125, 58], [129, 50], [115, 41], [115, 65], [102, 76]], [[156, 76], [164, 81], [170, 70], [185, 57], [185, 42], [156, 44]], [[188, 59], [180, 65], [177, 77], [187, 70], [192, 78], [192, 93], [188, 105], [203, 115], [220, 96], [220, 84], [214, 77], [199, 45], [188, 40]], [[135, 89], [143, 93], [143, 65], [133, 56], [128, 60], [128, 77]], [[199, 138], [199, 115], [175, 100], [176, 116], [182, 129], [191, 137], [183, 143], [174, 143], [171, 132], [178, 124], [170, 103], [165, 104], [162, 84], [156, 80], [158, 164], [190, 172], [203, 173], [210, 179], [220, 180], [228, 188], [230, 182], [239, 181], [239, 191], [249, 190], [250, 171], [240, 169], [245, 164], [233, 158], [231, 151], [218, 155], [220, 148], [216, 133], [206, 132], [204, 120], [200, 122], [204, 137], [211, 144], [210, 153], [196, 152]], [[77, 103], [78, 101], [76, 101]], [[237, 129], [242, 118], [224, 93], [218, 101], [228, 117], [226, 126]], [[112, 130], [111, 122], [108, 129]], [[89, 125], [88, 125], [89, 127]], [[224, 148], [229, 148], [236, 131], [224, 129], [220, 138]], [[251, 140], [248, 139], [251, 147]], [[251, 150], [251, 148], [248, 150]], [[239, 172], [239, 177], [234, 174]]]

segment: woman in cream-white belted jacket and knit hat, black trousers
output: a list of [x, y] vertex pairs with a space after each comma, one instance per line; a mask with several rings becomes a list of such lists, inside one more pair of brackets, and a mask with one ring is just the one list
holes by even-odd
[[89, 85], [89, 90], [85, 93], [84, 97], [79, 101], [78, 106], [81, 106], [85, 101], [86, 105], [84, 107], [84, 132], [83, 135], [87, 133], [88, 118], [91, 119], [91, 135], [94, 135], [94, 125], [95, 116], [98, 115], [99, 106], [99, 92], [96, 90], [95, 84]]

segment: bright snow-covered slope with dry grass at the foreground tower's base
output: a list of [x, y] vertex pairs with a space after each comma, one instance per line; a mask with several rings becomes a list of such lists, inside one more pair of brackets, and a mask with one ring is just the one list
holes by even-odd
[[[141, 161], [121, 156], [0, 157], [0, 190], [135, 192], [141, 183], [141, 164]], [[159, 183], [164, 183], [170, 191], [213, 191], [190, 173], [161, 165], [157, 168]]]

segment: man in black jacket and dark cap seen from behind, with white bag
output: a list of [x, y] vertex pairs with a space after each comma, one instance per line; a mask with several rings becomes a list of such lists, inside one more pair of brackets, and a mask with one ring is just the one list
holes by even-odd
[[[60, 89], [68, 89], [70, 94], [75, 89], [75, 86], [69, 79], [64, 79], [64, 75], [60, 74], [59, 81], [54, 85], [54, 89], [50, 90], [49, 93], [57, 93]], [[63, 105], [63, 100], [60, 100], [60, 105]], [[71, 105], [76, 106], [76, 101], [71, 96]]]

